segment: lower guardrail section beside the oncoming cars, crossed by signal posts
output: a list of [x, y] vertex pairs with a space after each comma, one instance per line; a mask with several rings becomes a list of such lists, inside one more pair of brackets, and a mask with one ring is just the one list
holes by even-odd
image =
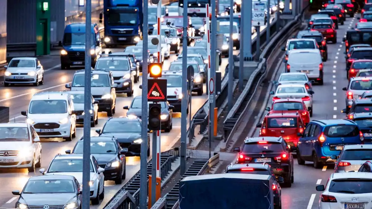
[[[161, 179], [163, 180], [171, 170], [171, 163], [179, 157], [179, 148], [173, 148], [161, 152]], [[152, 159], [147, 161], [147, 183], [148, 176], [152, 172]], [[135, 209], [140, 204], [140, 173], [138, 171], [123, 187], [112, 197], [104, 209]], [[148, 187], [147, 187], [148, 189]]]

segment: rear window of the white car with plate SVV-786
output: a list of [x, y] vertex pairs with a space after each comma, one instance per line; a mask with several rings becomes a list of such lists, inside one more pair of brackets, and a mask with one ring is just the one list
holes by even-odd
[[346, 194], [372, 193], [372, 179], [335, 179], [331, 181], [328, 192]]

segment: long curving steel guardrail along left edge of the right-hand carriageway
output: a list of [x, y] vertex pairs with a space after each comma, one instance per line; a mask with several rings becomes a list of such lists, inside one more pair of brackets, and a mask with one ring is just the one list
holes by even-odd
[[[246, 87], [244, 88], [243, 92], [238, 97], [237, 101], [235, 102], [234, 106], [227, 114], [226, 119], [224, 121], [224, 146], [221, 146], [221, 151], [226, 151], [228, 145], [232, 139], [233, 132], [237, 129], [237, 124], [240, 122], [242, 116], [247, 111], [247, 107], [251, 102], [251, 98], [253, 98], [254, 93], [260, 83], [266, 78], [266, 67], [267, 67], [267, 58], [275, 48], [279, 47], [278, 43], [282, 40], [286, 40], [289, 35], [293, 32], [298, 30], [301, 26], [303, 21], [303, 15], [305, 10], [307, 10], [308, 6], [302, 10], [301, 14], [297, 15], [294, 20], [287, 23], [279, 33], [277, 33], [274, 38], [266, 45], [265, 49], [263, 50], [262, 54], [260, 55], [260, 63], [256, 70], [253, 71], [251, 74]], [[278, 49], [279, 50], [279, 49]]]

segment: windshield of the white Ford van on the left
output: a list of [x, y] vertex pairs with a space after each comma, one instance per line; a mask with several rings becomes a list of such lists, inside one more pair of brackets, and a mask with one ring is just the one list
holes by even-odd
[[62, 114], [67, 113], [65, 100], [33, 100], [28, 110], [30, 114]]

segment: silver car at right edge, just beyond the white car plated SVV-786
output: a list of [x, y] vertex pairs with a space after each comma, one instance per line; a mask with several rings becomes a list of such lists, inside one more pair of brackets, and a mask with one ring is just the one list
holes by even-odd
[[[333, 160], [336, 155], [331, 156]], [[334, 167], [335, 173], [357, 172], [363, 163], [372, 160], [372, 144], [344, 145]]]

